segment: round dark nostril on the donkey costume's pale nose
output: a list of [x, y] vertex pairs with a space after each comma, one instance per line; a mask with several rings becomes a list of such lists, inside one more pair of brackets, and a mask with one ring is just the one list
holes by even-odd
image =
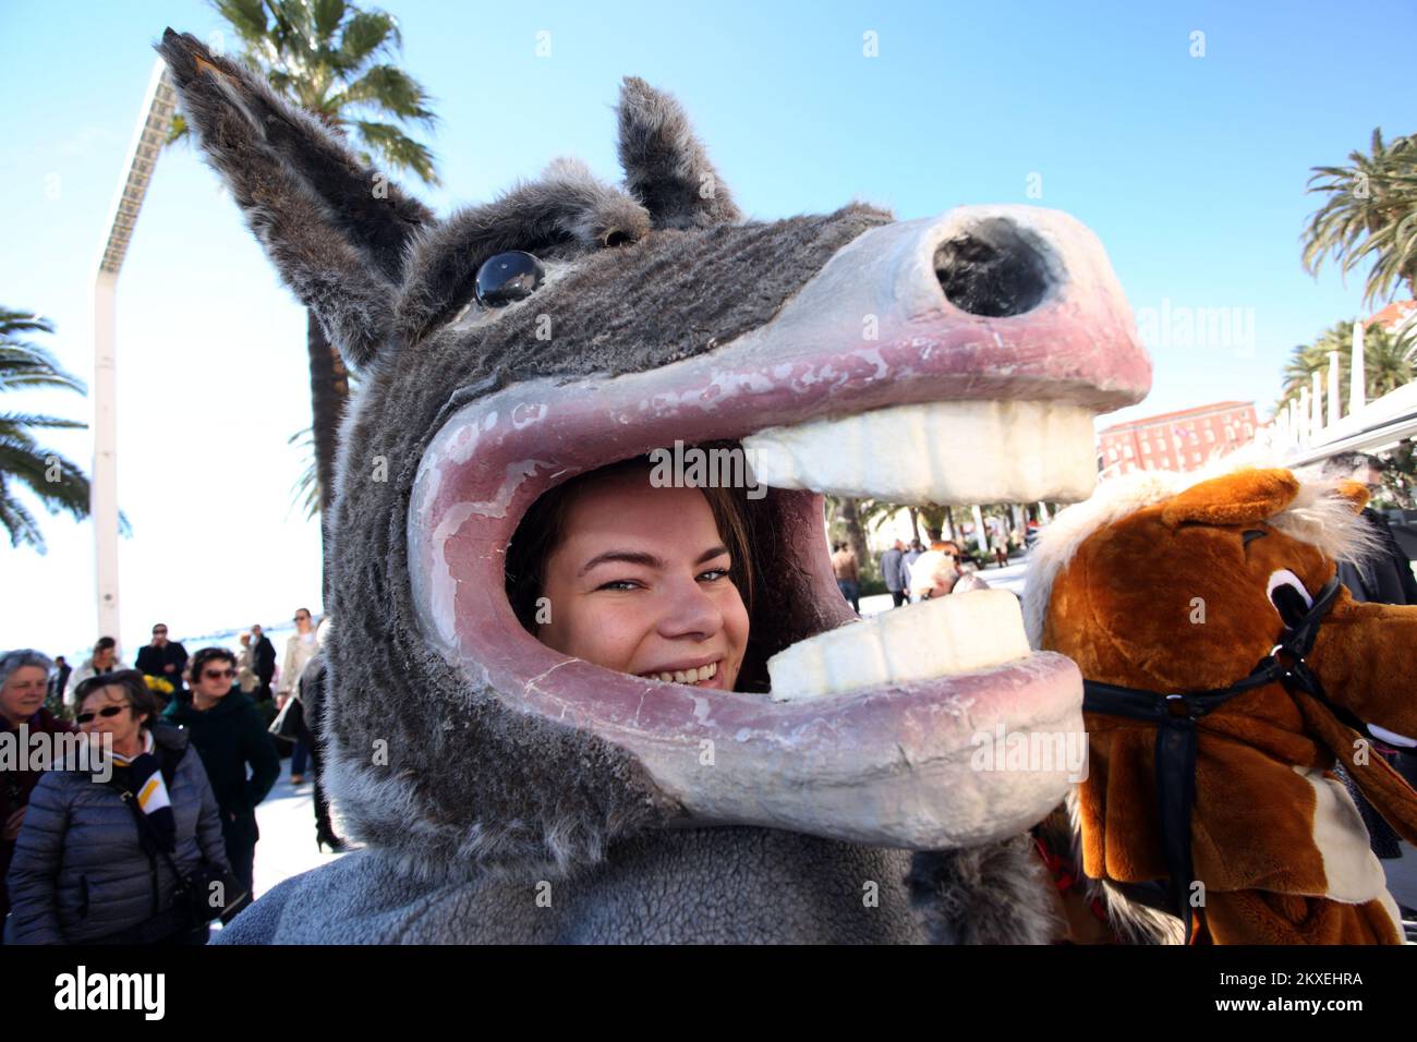
[[939, 244], [935, 278], [961, 310], [1010, 318], [1033, 310], [1051, 286], [1044, 247], [1013, 221], [989, 217]]

